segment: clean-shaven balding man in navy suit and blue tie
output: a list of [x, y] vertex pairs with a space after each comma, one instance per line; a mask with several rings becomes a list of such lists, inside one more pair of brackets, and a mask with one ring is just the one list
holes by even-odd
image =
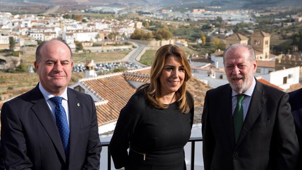
[[43, 42], [34, 64], [39, 84], [2, 106], [6, 170], [99, 170], [94, 101], [67, 88], [73, 66], [69, 46], [58, 39]]

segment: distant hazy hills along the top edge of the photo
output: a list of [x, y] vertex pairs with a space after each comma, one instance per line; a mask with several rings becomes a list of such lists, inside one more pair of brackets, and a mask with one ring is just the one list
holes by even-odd
[[302, 0], [0, 0], [5, 2], [37, 2], [48, 4], [161, 4], [167, 7], [221, 6], [223, 9], [258, 9], [272, 6], [300, 6]]

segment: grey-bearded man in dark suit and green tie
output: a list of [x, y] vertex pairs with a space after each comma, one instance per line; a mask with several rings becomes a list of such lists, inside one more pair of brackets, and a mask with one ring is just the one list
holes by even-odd
[[229, 84], [207, 91], [201, 118], [204, 170], [294, 170], [288, 94], [255, 79], [251, 46], [233, 44], [223, 59]]

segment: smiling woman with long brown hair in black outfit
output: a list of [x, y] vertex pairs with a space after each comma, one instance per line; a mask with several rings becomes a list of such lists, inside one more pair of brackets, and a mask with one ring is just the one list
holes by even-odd
[[190, 77], [181, 48], [169, 44], [156, 52], [150, 83], [138, 88], [121, 110], [110, 141], [116, 169], [186, 169], [183, 147], [194, 116], [193, 98], [186, 91]]

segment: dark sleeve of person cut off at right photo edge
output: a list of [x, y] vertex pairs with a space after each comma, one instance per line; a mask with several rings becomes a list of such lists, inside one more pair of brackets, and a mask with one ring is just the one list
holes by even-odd
[[[289, 93], [289, 104], [295, 121], [299, 146], [302, 148], [302, 89]], [[300, 151], [297, 170], [302, 170], [302, 152]]]

